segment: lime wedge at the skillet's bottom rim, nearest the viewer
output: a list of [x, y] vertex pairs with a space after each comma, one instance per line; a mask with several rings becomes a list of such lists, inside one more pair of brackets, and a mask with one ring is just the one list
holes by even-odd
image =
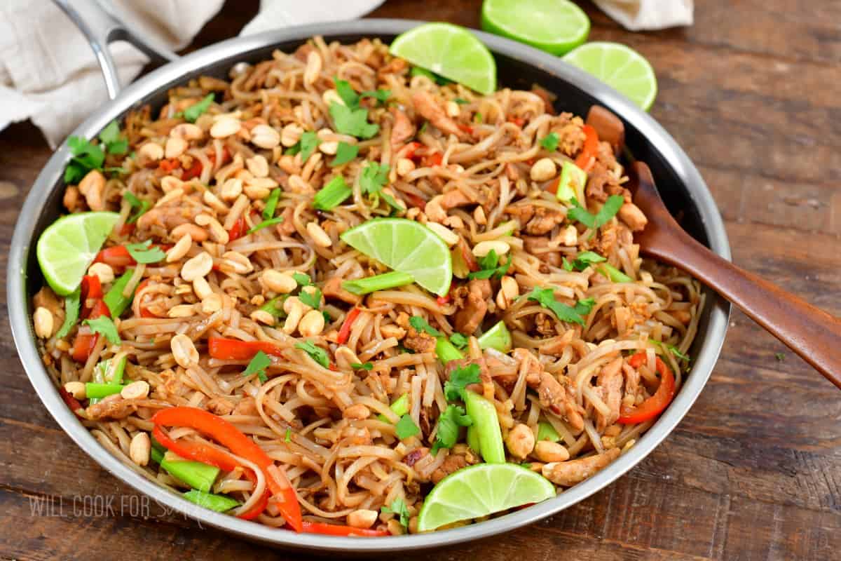
[[479, 463], [447, 475], [432, 488], [418, 514], [418, 532], [553, 496], [554, 485], [531, 469], [516, 463]]

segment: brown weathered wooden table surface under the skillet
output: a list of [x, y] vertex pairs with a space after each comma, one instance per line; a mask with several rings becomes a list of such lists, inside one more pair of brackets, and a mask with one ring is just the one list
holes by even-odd
[[[582, 5], [593, 21], [590, 39], [621, 41], [653, 64], [660, 87], [653, 117], [710, 185], [733, 261], [841, 315], [841, 3], [706, 0], [696, 3], [693, 27], [645, 34], [628, 33]], [[193, 46], [235, 34], [256, 9], [256, 0], [229, 2]], [[398, 0], [373, 16], [475, 27], [479, 0]], [[49, 156], [30, 124], [0, 134], [3, 284], [20, 206]], [[5, 294], [0, 298], [5, 310]], [[116, 559], [128, 552], [167, 560], [304, 558], [162, 512], [99, 468], [35, 396], [5, 314], [0, 372], [0, 559]], [[839, 558], [839, 397], [736, 311], [700, 399], [637, 468], [547, 521], [431, 555]]]

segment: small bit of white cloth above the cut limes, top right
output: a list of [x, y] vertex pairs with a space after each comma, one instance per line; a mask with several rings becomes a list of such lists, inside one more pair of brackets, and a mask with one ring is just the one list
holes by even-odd
[[601, 11], [631, 31], [691, 25], [693, 0], [593, 0]]

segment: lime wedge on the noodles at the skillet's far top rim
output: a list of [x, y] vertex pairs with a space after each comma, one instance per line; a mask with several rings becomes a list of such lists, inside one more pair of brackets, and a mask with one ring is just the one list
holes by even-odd
[[452, 24], [423, 24], [398, 35], [389, 52], [489, 95], [496, 89], [496, 62], [476, 36]]

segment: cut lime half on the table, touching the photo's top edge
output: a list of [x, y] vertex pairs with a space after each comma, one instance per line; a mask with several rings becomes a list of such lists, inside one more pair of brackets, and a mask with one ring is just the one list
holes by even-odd
[[587, 40], [590, 18], [569, 0], [484, 0], [482, 29], [563, 55]]

